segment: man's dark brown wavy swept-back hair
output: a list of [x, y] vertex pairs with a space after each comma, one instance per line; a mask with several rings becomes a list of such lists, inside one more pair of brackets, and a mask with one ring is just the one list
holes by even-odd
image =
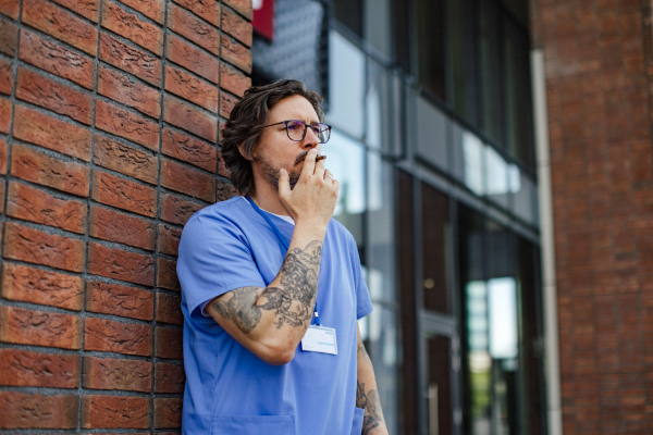
[[312, 104], [320, 122], [324, 120], [322, 97], [316, 91], [307, 90], [301, 82], [291, 79], [252, 86], [232, 109], [222, 129], [222, 158], [230, 171], [232, 184], [242, 194], [255, 192], [254, 172], [249, 160], [259, 145], [262, 126], [268, 124], [270, 110], [284, 98], [296, 95], [306, 98]]

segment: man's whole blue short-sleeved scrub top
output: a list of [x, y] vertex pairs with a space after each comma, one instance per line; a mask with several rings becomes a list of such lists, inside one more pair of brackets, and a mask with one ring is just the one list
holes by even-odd
[[[289, 244], [294, 225], [270, 214]], [[186, 388], [183, 434], [360, 434], [356, 408], [356, 320], [372, 311], [352, 234], [326, 228], [318, 284], [322, 326], [336, 331], [337, 355], [305, 352], [270, 365], [232, 338], [201, 306], [245, 286], [266, 287], [285, 252], [243, 198], [207, 207], [184, 227], [177, 275], [184, 313]]]

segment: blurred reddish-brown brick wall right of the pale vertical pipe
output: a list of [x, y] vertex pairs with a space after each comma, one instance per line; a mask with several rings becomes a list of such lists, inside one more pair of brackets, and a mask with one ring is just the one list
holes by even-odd
[[533, 3], [546, 62], [564, 433], [651, 434], [651, 2]]

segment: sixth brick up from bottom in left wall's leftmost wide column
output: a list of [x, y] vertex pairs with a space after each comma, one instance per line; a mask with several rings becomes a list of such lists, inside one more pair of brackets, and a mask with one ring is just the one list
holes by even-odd
[[84, 202], [60, 199], [22, 183], [9, 183], [7, 215], [78, 234], [86, 233]]

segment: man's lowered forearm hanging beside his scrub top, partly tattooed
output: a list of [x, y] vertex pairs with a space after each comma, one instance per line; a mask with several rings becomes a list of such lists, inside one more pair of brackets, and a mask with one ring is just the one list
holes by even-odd
[[356, 406], [365, 409], [362, 435], [387, 434], [381, 399], [377, 388], [374, 369], [362, 343], [358, 341], [358, 380], [356, 386]]

